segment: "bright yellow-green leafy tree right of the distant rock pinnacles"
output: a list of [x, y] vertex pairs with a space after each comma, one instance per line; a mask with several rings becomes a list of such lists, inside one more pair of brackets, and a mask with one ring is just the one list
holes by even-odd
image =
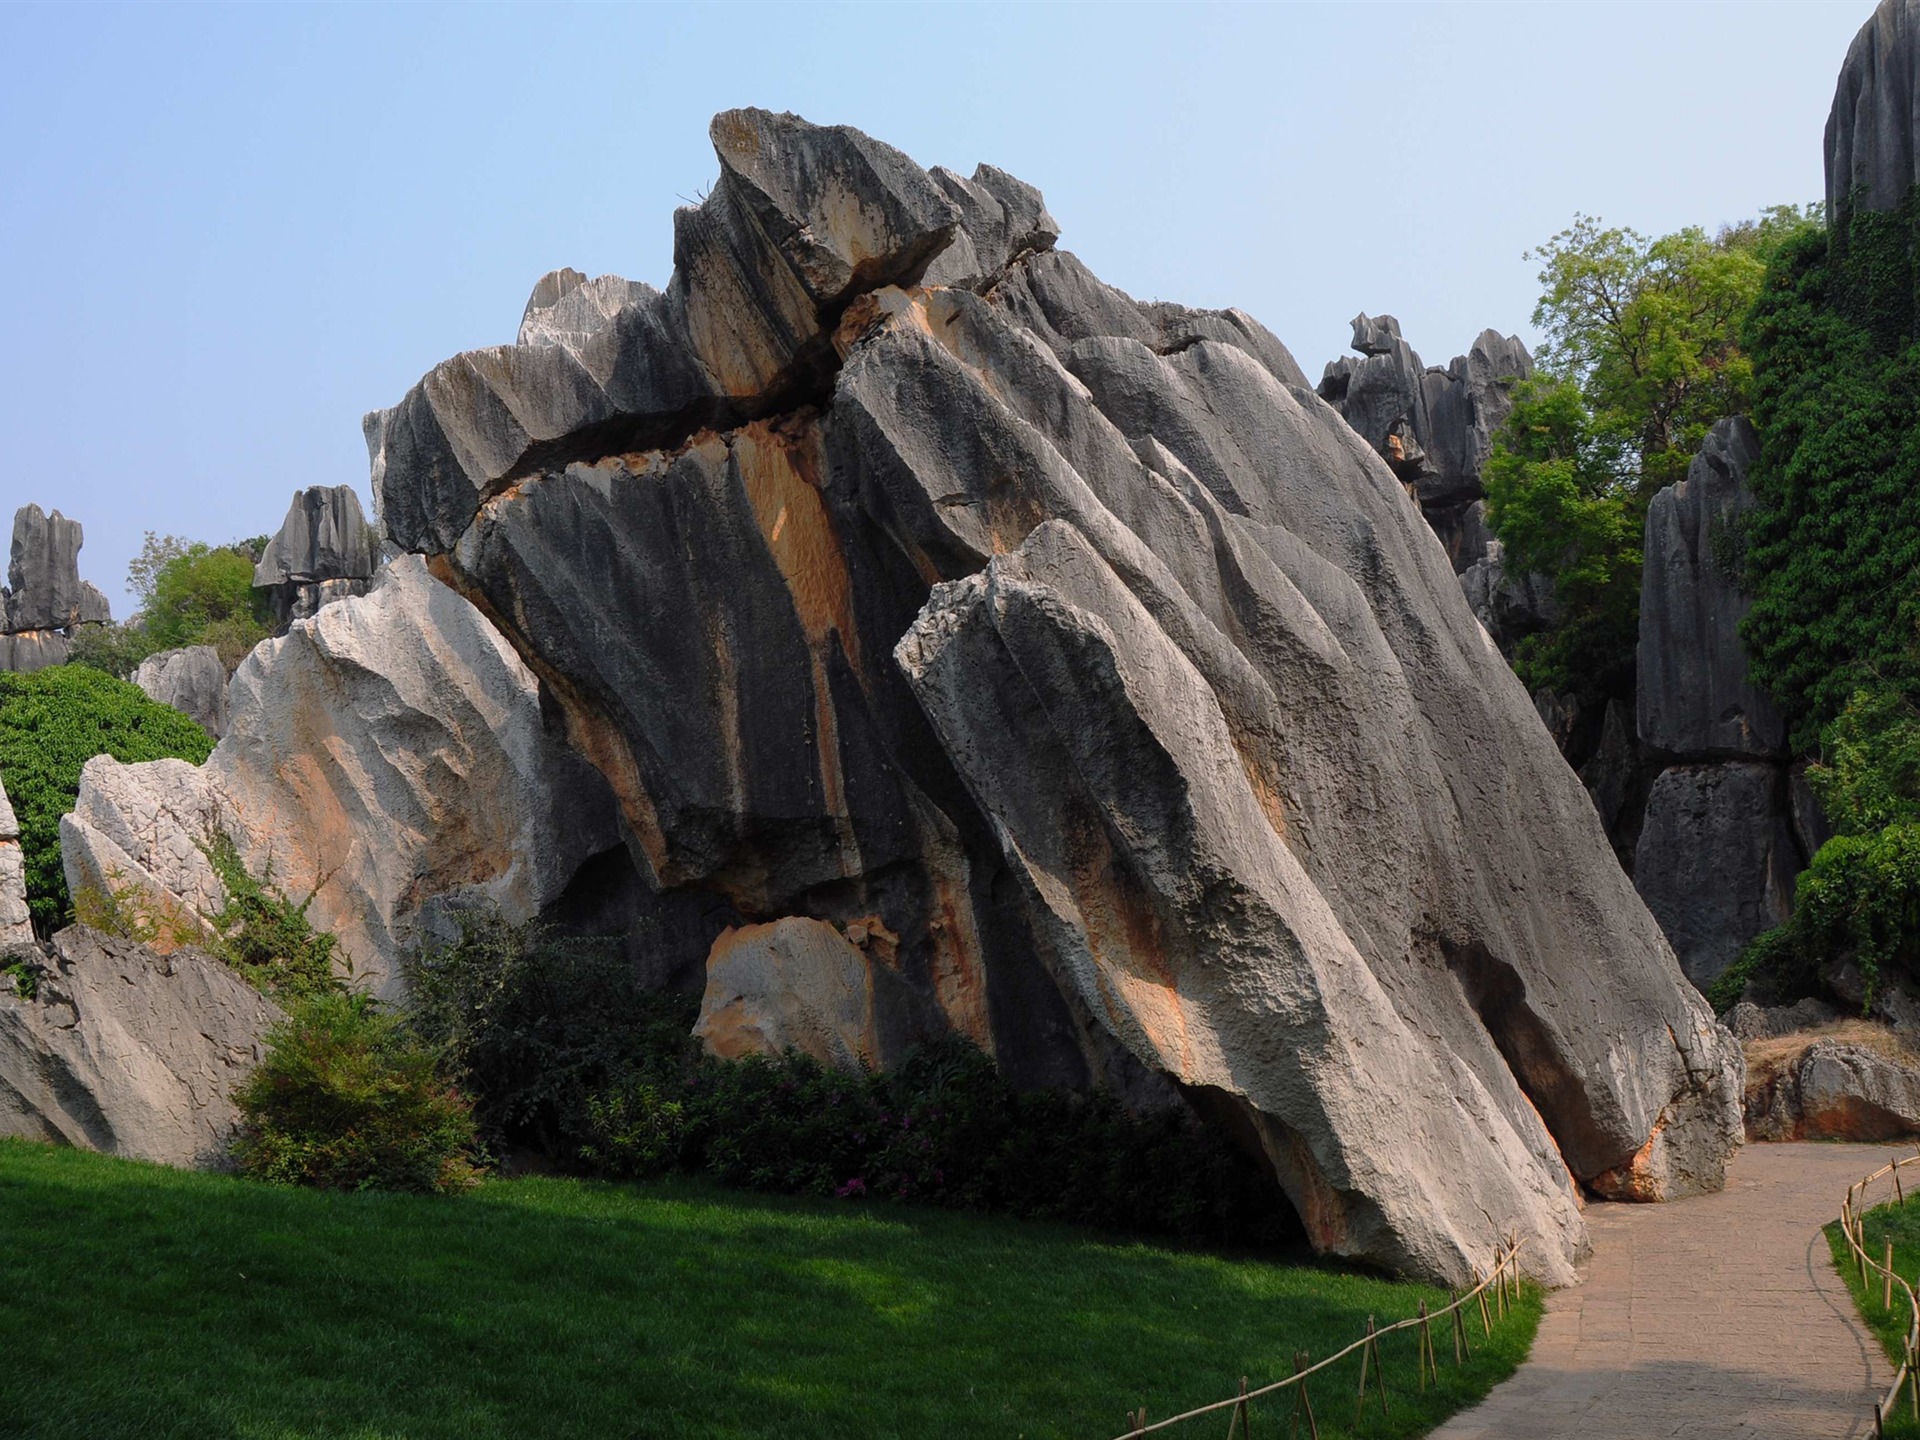
[[1509, 566], [1548, 576], [1565, 616], [1515, 655], [1530, 687], [1630, 687], [1647, 503], [1715, 420], [1747, 409], [1741, 323], [1768, 257], [1816, 225], [1818, 207], [1776, 205], [1716, 236], [1647, 238], [1578, 215], [1530, 252], [1546, 344], [1486, 467]]

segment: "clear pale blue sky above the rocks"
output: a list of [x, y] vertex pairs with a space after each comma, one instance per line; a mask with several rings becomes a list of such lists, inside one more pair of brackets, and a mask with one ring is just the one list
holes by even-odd
[[1359, 309], [1427, 363], [1532, 338], [1523, 252], [1822, 192], [1868, 0], [1265, 6], [108, 6], [0, 0], [0, 524], [225, 541], [367, 499], [363, 411], [555, 265], [662, 284], [730, 106], [1044, 190], [1139, 298], [1240, 305], [1309, 374]]

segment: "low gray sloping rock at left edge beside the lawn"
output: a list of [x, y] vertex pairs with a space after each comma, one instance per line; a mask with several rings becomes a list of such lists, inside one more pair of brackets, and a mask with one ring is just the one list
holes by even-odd
[[161, 956], [73, 925], [27, 998], [0, 981], [0, 1135], [217, 1167], [232, 1092], [280, 1010], [198, 950]]

